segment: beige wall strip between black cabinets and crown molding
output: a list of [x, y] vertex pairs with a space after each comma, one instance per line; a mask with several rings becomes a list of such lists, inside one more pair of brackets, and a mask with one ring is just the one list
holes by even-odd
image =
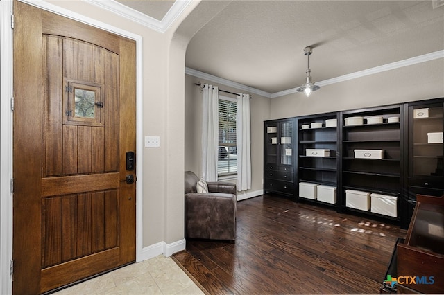
[[309, 98], [303, 93], [272, 98], [270, 116], [287, 118], [444, 97], [443, 81], [444, 59], [432, 60], [330, 84]]

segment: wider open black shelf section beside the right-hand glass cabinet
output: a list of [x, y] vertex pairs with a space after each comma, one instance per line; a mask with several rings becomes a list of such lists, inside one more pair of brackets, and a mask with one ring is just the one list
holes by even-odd
[[[388, 118], [402, 117], [400, 105], [343, 111], [343, 121], [347, 118], [363, 117], [362, 125], [343, 125], [342, 129], [342, 210], [345, 208], [345, 190], [359, 190], [397, 197], [401, 194], [402, 125], [389, 122]], [[369, 123], [369, 118], [382, 117], [382, 123]], [[359, 159], [355, 150], [384, 150], [382, 159]], [[396, 202], [398, 206], [398, 202]], [[378, 216], [366, 211], [366, 214]], [[396, 217], [384, 218], [399, 221]]]

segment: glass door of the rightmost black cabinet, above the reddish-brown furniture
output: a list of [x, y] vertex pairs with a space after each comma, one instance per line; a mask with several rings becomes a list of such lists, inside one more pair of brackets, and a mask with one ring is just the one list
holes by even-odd
[[443, 106], [413, 107], [410, 177], [443, 177]]

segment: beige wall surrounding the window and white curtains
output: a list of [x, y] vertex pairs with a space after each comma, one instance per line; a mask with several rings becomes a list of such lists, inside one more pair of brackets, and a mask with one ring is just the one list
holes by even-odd
[[[239, 93], [239, 89], [216, 84], [212, 81], [185, 75], [185, 170], [191, 170], [201, 176], [200, 154], [202, 133], [202, 93], [196, 82], [208, 83], [218, 86], [219, 89]], [[223, 94], [223, 93], [221, 93]], [[268, 120], [270, 114], [270, 98], [251, 94], [251, 190], [238, 193], [238, 199], [244, 199], [245, 194], [262, 190], [262, 177], [264, 166], [264, 120]], [[228, 94], [227, 96], [231, 96]]]

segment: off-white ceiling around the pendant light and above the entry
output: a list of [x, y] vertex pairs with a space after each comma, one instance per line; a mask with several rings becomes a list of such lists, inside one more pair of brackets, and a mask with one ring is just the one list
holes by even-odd
[[[159, 20], [173, 3], [119, 2]], [[277, 93], [304, 82], [305, 46], [314, 47], [315, 82], [443, 51], [441, 4], [444, 0], [235, 0], [191, 39], [186, 66]], [[436, 62], [444, 71], [443, 59]]]

